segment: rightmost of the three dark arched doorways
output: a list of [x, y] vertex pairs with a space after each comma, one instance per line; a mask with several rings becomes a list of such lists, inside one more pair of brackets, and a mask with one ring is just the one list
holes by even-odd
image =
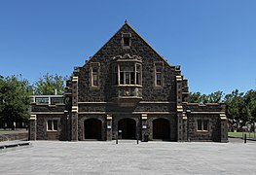
[[169, 121], [156, 119], [153, 121], [153, 139], [169, 140]]

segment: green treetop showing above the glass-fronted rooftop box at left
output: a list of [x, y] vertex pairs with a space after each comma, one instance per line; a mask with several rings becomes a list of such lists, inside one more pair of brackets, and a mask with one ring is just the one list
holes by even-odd
[[65, 89], [64, 84], [66, 80], [66, 77], [58, 76], [57, 74], [54, 76], [47, 73], [34, 84], [34, 94], [54, 95], [55, 90], [56, 94], [62, 94]]

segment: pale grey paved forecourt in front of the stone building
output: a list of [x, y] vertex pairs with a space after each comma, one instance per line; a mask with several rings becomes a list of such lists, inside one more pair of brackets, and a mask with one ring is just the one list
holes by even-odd
[[256, 142], [34, 141], [0, 154], [0, 174], [256, 174]]

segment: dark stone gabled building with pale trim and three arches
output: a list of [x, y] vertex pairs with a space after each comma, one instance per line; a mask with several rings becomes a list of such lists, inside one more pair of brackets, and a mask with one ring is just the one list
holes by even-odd
[[188, 81], [127, 22], [62, 96], [34, 96], [30, 140], [227, 142], [225, 105], [188, 103]]

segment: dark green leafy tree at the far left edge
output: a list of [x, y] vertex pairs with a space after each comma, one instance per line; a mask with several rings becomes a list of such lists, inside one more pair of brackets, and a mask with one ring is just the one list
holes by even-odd
[[27, 122], [32, 87], [21, 76], [0, 77], [0, 123]]

